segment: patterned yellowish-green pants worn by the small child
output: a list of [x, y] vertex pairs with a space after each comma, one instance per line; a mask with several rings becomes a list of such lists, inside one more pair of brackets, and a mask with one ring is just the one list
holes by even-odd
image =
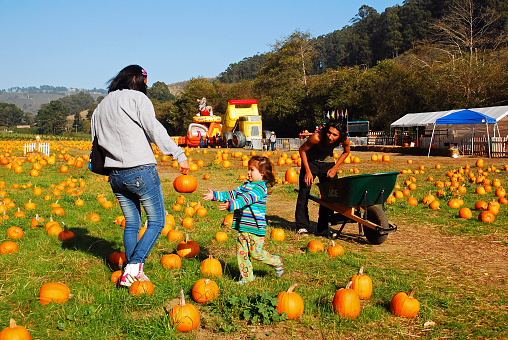
[[265, 238], [262, 236], [256, 236], [246, 232], [240, 232], [238, 234], [236, 257], [238, 259], [238, 269], [240, 270], [242, 280], [254, 280], [251, 258], [272, 267], [277, 267], [282, 264], [278, 255], [271, 255], [263, 249], [264, 243]]

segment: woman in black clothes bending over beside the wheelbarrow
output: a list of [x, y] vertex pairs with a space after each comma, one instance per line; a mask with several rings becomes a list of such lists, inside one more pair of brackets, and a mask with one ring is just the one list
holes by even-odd
[[[333, 150], [342, 145], [344, 152], [337, 162], [334, 162]], [[309, 232], [309, 194], [314, 178], [319, 183], [337, 178], [337, 168], [344, 162], [351, 152], [346, 125], [338, 120], [330, 120], [322, 130], [315, 132], [300, 147], [302, 166], [300, 169], [298, 198], [295, 209], [296, 229], [299, 234]], [[346, 194], [346, 193], [343, 193]], [[319, 206], [319, 217], [316, 234], [326, 236], [328, 219], [332, 210]]]

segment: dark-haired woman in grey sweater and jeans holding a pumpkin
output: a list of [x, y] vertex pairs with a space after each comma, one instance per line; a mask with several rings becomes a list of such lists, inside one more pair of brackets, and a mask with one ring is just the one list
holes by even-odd
[[[92, 140], [97, 137], [104, 149], [109, 183], [125, 216], [127, 263], [120, 285], [126, 287], [134, 281], [149, 280], [143, 265], [166, 224], [157, 161], [150, 142], [163, 154], [172, 155], [181, 173], [189, 173], [185, 152], [155, 118], [152, 102], [146, 96], [146, 82], [146, 71], [140, 66], [125, 67], [109, 81], [108, 95], [95, 109], [91, 123]], [[138, 241], [141, 206], [148, 226]]]

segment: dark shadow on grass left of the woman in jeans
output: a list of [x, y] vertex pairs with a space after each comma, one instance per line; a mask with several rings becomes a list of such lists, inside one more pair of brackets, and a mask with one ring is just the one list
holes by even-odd
[[86, 228], [69, 228], [69, 231], [74, 233], [74, 237], [62, 242], [63, 249], [92, 254], [99, 259], [105, 260], [106, 263], [111, 266], [108, 262], [108, 258], [112, 252], [118, 250], [118, 246], [115, 243], [90, 236]]

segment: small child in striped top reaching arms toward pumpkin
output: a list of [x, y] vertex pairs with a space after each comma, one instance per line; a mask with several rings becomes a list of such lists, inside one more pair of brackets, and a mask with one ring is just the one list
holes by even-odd
[[272, 163], [267, 157], [253, 156], [249, 160], [249, 181], [231, 191], [203, 194], [205, 201], [221, 201], [219, 210], [234, 211], [232, 228], [238, 231], [236, 257], [241, 279], [238, 284], [254, 280], [251, 258], [275, 268], [275, 275], [284, 274], [282, 257], [263, 249], [266, 236], [267, 187], [275, 183]]

